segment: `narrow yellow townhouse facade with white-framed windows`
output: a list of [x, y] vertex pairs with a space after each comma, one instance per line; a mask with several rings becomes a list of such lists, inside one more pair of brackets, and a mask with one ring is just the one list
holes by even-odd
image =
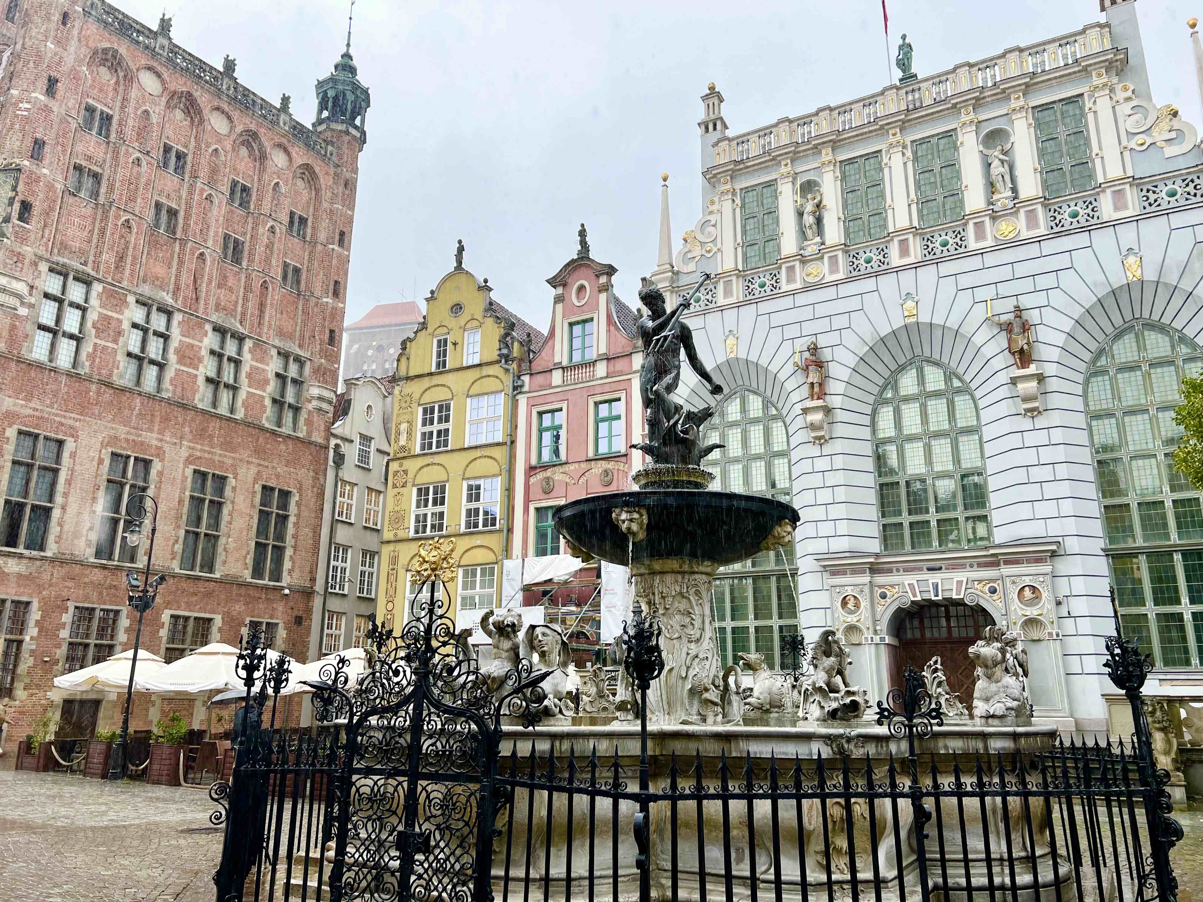
[[[493, 299], [488, 280], [456, 267], [426, 298], [426, 318], [397, 354], [392, 453], [377, 619], [398, 628], [421, 583], [421, 542], [455, 542], [450, 613], [497, 605], [509, 548], [515, 386], [544, 334]], [[532, 351], [533, 349], [533, 351]]]

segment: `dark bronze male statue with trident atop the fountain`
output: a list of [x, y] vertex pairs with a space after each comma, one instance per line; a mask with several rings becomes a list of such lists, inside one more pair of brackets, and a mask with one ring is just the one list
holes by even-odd
[[644, 363], [639, 373], [639, 392], [647, 411], [647, 441], [638, 447], [660, 465], [697, 467], [706, 455], [722, 445], [701, 447], [699, 431], [715, 410], [711, 407], [687, 411], [670, 397], [681, 384], [681, 351], [693, 372], [710, 386], [711, 394], [722, 394], [723, 386], [715, 381], [706, 364], [698, 356], [693, 344], [693, 332], [681, 322], [681, 315], [698, 297], [701, 286], [710, 279], [705, 274], [687, 298], [672, 313], [668, 313], [664, 295], [650, 280], [645, 280], [639, 299], [647, 308], [647, 315], [639, 321], [639, 337], [644, 343]]

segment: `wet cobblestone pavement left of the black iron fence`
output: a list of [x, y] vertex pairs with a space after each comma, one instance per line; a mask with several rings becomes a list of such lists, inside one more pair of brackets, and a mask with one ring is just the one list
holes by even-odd
[[0, 772], [0, 902], [213, 902], [221, 832], [195, 789]]

